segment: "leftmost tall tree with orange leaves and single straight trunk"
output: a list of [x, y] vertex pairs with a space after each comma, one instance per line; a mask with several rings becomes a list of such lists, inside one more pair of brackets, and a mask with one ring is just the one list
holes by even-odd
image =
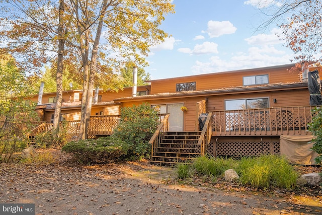
[[[62, 71], [64, 44], [68, 33], [70, 16], [65, 16], [64, 0], [32, 1], [2, 0], [0, 11], [0, 36], [7, 41], [4, 50], [21, 59], [18, 65], [30, 73], [39, 73], [39, 68], [57, 54], [56, 107], [54, 130], [59, 129], [62, 103]], [[58, 24], [57, 24], [58, 23]]]

